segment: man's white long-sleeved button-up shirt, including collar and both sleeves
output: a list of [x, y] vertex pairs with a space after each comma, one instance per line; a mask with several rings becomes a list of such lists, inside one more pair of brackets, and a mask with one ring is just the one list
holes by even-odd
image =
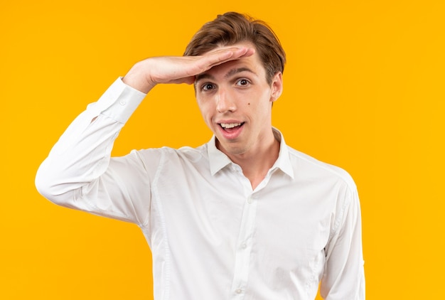
[[110, 158], [144, 97], [114, 82], [60, 137], [36, 186], [59, 205], [136, 223], [153, 255], [154, 299], [306, 300], [320, 281], [328, 300], [365, 299], [348, 173], [286, 146], [276, 129], [279, 158], [254, 190], [214, 136]]

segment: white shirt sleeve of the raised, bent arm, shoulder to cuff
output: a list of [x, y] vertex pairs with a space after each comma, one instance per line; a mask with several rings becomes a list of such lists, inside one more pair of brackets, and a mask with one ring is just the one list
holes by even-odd
[[146, 95], [119, 77], [66, 129], [38, 168], [36, 188], [68, 208], [146, 222], [149, 179], [136, 152], [111, 159], [114, 140]]

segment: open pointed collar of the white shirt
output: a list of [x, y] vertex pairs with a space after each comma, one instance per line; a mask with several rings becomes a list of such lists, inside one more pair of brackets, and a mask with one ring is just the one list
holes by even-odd
[[[279, 154], [278, 159], [275, 161], [274, 166], [272, 166], [271, 171], [275, 168], [279, 168], [284, 173], [286, 173], [291, 178], [294, 178], [294, 169], [292, 168], [291, 161], [289, 158], [289, 149], [284, 141], [283, 134], [279, 132], [278, 129], [272, 127], [274, 132], [275, 139], [279, 141]], [[229, 159], [227, 155], [225, 155], [222, 151], [216, 148], [216, 137], [212, 136], [210, 141], [207, 143], [207, 151], [208, 151], [208, 160], [210, 164], [210, 173], [215, 175], [225, 166], [232, 164], [232, 161]]]

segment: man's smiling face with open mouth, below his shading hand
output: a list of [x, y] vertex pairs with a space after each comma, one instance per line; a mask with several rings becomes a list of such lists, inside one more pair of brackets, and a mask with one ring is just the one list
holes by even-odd
[[[249, 43], [231, 45], [250, 46]], [[272, 134], [272, 102], [282, 92], [282, 75], [272, 84], [254, 55], [217, 65], [196, 76], [196, 100], [205, 123], [227, 156], [255, 154]]]

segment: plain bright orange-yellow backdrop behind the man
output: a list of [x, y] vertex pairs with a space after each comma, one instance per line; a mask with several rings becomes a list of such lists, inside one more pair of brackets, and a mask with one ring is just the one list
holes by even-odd
[[[218, 2], [2, 2], [0, 299], [151, 299], [139, 229], [53, 205], [34, 176], [117, 76], [181, 55], [231, 10], [267, 21], [288, 55], [274, 126], [358, 184], [368, 299], [443, 296], [444, 1]], [[209, 138], [193, 88], [159, 86], [114, 154]]]

